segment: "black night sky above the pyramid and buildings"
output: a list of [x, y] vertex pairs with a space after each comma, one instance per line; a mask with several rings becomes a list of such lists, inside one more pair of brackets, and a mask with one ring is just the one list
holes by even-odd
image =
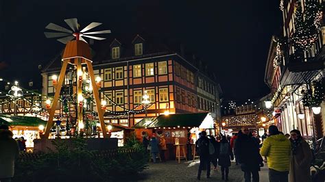
[[[64, 45], [45, 38], [52, 22], [67, 27], [104, 23], [123, 36], [151, 32], [185, 44], [217, 75], [225, 99], [255, 99], [269, 92], [263, 81], [269, 42], [282, 24], [275, 0], [232, 1], [0, 1], [0, 77], [26, 81]], [[130, 40], [131, 41], [131, 40]]]

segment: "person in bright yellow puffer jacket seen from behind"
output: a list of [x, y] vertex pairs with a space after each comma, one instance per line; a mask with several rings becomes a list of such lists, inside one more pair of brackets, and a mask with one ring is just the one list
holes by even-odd
[[267, 157], [269, 182], [288, 181], [291, 144], [275, 125], [269, 126], [269, 136], [264, 140], [261, 155]]

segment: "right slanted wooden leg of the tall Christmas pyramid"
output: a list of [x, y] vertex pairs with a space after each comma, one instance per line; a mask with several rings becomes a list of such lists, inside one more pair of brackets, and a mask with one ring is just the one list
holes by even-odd
[[101, 131], [103, 131], [104, 138], [109, 138], [109, 135], [107, 134], [107, 131], [106, 131], [105, 122], [104, 122], [104, 113], [101, 110], [101, 102], [99, 99], [99, 92], [98, 92], [98, 88], [97, 88], [96, 81], [95, 81], [93, 65], [91, 65], [91, 62], [89, 62], [89, 61], [86, 61], [86, 63], [87, 63], [89, 77], [91, 78], [91, 85], [93, 86], [93, 94], [95, 97], [95, 103], [96, 103], [96, 107], [97, 107]]

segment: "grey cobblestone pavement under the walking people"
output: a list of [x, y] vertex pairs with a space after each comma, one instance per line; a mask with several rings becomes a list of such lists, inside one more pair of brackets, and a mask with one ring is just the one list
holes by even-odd
[[[197, 170], [200, 161], [167, 161], [165, 163], [149, 163], [149, 168], [141, 172], [141, 180], [139, 181], [197, 181]], [[220, 166], [218, 166], [220, 169]], [[213, 165], [211, 164], [211, 169]], [[266, 175], [266, 176], [265, 176]], [[206, 171], [202, 171], [201, 181], [222, 181], [221, 172], [211, 170], [211, 179], [206, 179]], [[267, 182], [267, 168], [262, 168], [260, 172], [261, 182]], [[229, 181], [243, 181], [243, 172], [239, 166], [232, 163], [229, 170]]]

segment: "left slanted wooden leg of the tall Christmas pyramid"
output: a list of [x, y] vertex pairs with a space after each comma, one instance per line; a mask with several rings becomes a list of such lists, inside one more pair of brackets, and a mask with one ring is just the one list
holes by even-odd
[[51, 107], [51, 109], [49, 109], [49, 120], [47, 121], [44, 135], [41, 135], [41, 138], [49, 138], [49, 131], [51, 130], [51, 127], [53, 126], [53, 116], [56, 112], [56, 105], [58, 105], [59, 96], [60, 96], [60, 92], [61, 92], [61, 88], [62, 88], [62, 83], [64, 81], [65, 72], [66, 72], [67, 66], [68, 66], [68, 61], [69, 60], [63, 60], [62, 68], [60, 71], [60, 76], [58, 79], [58, 86], [56, 87], [56, 93], [54, 94], [54, 98], [53, 98], [52, 107]]

